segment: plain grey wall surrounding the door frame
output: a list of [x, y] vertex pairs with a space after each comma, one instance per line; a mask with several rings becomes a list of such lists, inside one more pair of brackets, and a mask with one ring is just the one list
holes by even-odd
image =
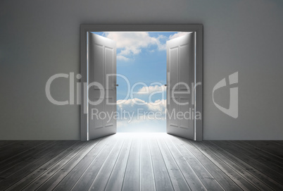
[[[205, 140], [282, 140], [282, 1], [1, 1], [0, 140], [79, 140], [79, 106], [45, 96], [56, 73], [80, 73], [80, 24], [204, 26]], [[239, 71], [239, 118], [213, 104], [214, 85]], [[53, 96], [68, 98], [68, 80]], [[229, 89], [215, 94], [228, 106]]]

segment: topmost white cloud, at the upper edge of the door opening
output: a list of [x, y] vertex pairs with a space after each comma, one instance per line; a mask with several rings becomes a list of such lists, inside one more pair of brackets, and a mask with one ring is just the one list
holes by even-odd
[[158, 50], [164, 50], [165, 44], [162, 44], [160, 39], [165, 38], [163, 35], [158, 37], [150, 37], [149, 32], [105, 32], [104, 36], [115, 40], [117, 48], [122, 49], [118, 56], [125, 60], [125, 56], [139, 54], [142, 48], [148, 48], [151, 45], [156, 45]]

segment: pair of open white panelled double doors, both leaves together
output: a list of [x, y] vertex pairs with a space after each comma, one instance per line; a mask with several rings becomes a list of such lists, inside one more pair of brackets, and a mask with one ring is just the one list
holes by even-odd
[[[167, 42], [167, 133], [195, 140], [194, 82], [196, 67], [196, 32]], [[116, 133], [117, 122], [104, 113], [116, 111], [115, 41], [87, 32], [88, 138], [96, 139]], [[95, 104], [94, 104], [95, 103]], [[191, 117], [180, 117], [177, 113]], [[95, 115], [94, 115], [95, 114]]]

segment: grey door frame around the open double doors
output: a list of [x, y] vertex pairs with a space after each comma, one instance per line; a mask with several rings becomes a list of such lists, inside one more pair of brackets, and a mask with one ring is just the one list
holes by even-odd
[[201, 119], [194, 119], [194, 140], [203, 140], [203, 25], [80, 25], [80, 74], [81, 83], [81, 105], [80, 105], [80, 140], [88, 140], [88, 115], [84, 112], [87, 109], [88, 91], [84, 88], [89, 84], [88, 73], [88, 51], [87, 51], [87, 32], [106, 32], [106, 31], [144, 31], [144, 32], [196, 32], [196, 49], [194, 63], [194, 84], [201, 82], [201, 86], [194, 91], [194, 111], [201, 113]]

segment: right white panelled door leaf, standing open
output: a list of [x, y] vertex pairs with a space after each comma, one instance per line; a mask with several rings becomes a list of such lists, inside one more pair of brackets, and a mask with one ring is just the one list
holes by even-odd
[[[194, 32], [167, 42], [167, 133], [194, 140]], [[174, 89], [175, 94], [172, 94]], [[180, 113], [181, 115], [178, 115]]]

